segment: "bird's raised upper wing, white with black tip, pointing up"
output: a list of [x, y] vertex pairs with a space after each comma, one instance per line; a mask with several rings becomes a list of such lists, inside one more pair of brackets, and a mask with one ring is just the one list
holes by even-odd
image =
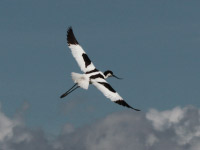
[[76, 40], [72, 27], [69, 27], [67, 30], [67, 43], [72, 52], [72, 55], [84, 73], [95, 70], [95, 66]]

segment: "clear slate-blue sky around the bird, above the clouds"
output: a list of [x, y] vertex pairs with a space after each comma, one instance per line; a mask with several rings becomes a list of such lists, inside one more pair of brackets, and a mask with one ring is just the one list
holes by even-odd
[[108, 82], [132, 106], [200, 107], [199, 1], [1, 0], [0, 102], [8, 117], [28, 105], [25, 122], [57, 134], [111, 113], [129, 111], [94, 87], [59, 96], [81, 72], [66, 44], [66, 30], [95, 66], [124, 78]]

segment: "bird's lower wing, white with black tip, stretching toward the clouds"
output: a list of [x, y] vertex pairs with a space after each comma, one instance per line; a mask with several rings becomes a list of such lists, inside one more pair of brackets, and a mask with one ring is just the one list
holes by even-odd
[[106, 82], [106, 80], [104, 80], [104, 79], [100, 79], [100, 80], [96, 80], [96, 81], [93, 80], [92, 84], [94, 86], [96, 86], [96, 88], [99, 89], [111, 101], [113, 101], [119, 105], [134, 109], [136, 111], [140, 111], [139, 109], [135, 109], [135, 108], [131, 107], [130, 105], [128, 105], [123, 100], [123, 98], [110, 86], [110, 84], [108, 84], [108, 82]]

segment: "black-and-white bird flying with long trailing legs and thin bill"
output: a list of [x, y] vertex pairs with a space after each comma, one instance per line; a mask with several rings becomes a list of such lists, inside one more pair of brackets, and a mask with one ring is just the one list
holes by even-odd
[[89, 59], [88, 55], [85, 53], [85, 51], [82, 49], [82, 47], [79, 45], [78, 41], [76, 40], [72, 27], [69, 27], [67, 30], [67, 43], [72, 52], [72, 55], [76, 59], [79, 67], [84, 72], [84, 74], [72, 72], [71, 76], [75, 85], [72, 88], [70, 88], [67, 92], [65, 92], [63, 95], [61, 95], [60, 98], [67, 96], [69, 93], [71, 93], [72, 91], [76, 90], [79, 87], [87, 90], [89, 87], [89, 84], [93, 84], [111, 101], [117, 104], [126, 106], [128, 108], [132, 108], [136, 111], [140, 111], [128, 105], [123, 100], [123, 98], [105, 80], [108, 77], [115, 77], [117, 79], [121, 79], [121, 78], [118, 78], [117, 76], [115, 76], [113, 72], [110, 70], [107, 70], [103, 73], [95, 68], [95, 66]]

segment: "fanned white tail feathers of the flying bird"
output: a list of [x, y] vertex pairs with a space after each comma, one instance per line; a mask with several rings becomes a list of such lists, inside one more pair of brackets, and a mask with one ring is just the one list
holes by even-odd
[[89, 78], [84, 75], [84, 74], [80, 74], [80, 73], [75, 73], [72, 72], [72, 80], [74, 81], [74, 83], [77, 83], [78, 86], [80, 86], [83, 89], [88, 89], [89, 86]]

